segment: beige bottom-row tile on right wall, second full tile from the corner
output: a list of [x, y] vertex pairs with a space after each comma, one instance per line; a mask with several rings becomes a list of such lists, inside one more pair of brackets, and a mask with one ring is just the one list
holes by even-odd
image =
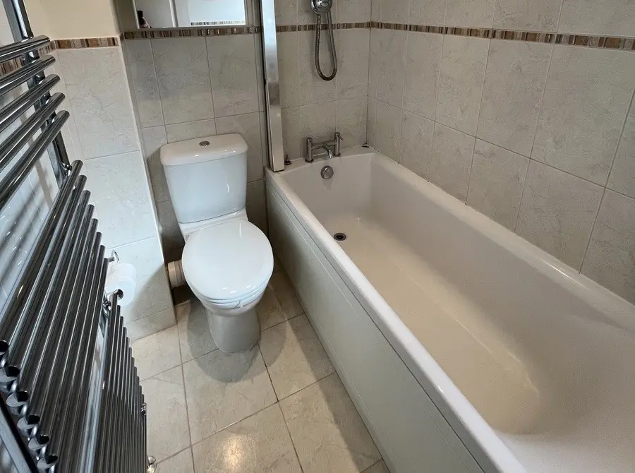
[[435, 124], [432, 120], [404, 112], [401, 121], [401, 150], [399, 164], [415, 172], [423, 179], [430, 176]]

